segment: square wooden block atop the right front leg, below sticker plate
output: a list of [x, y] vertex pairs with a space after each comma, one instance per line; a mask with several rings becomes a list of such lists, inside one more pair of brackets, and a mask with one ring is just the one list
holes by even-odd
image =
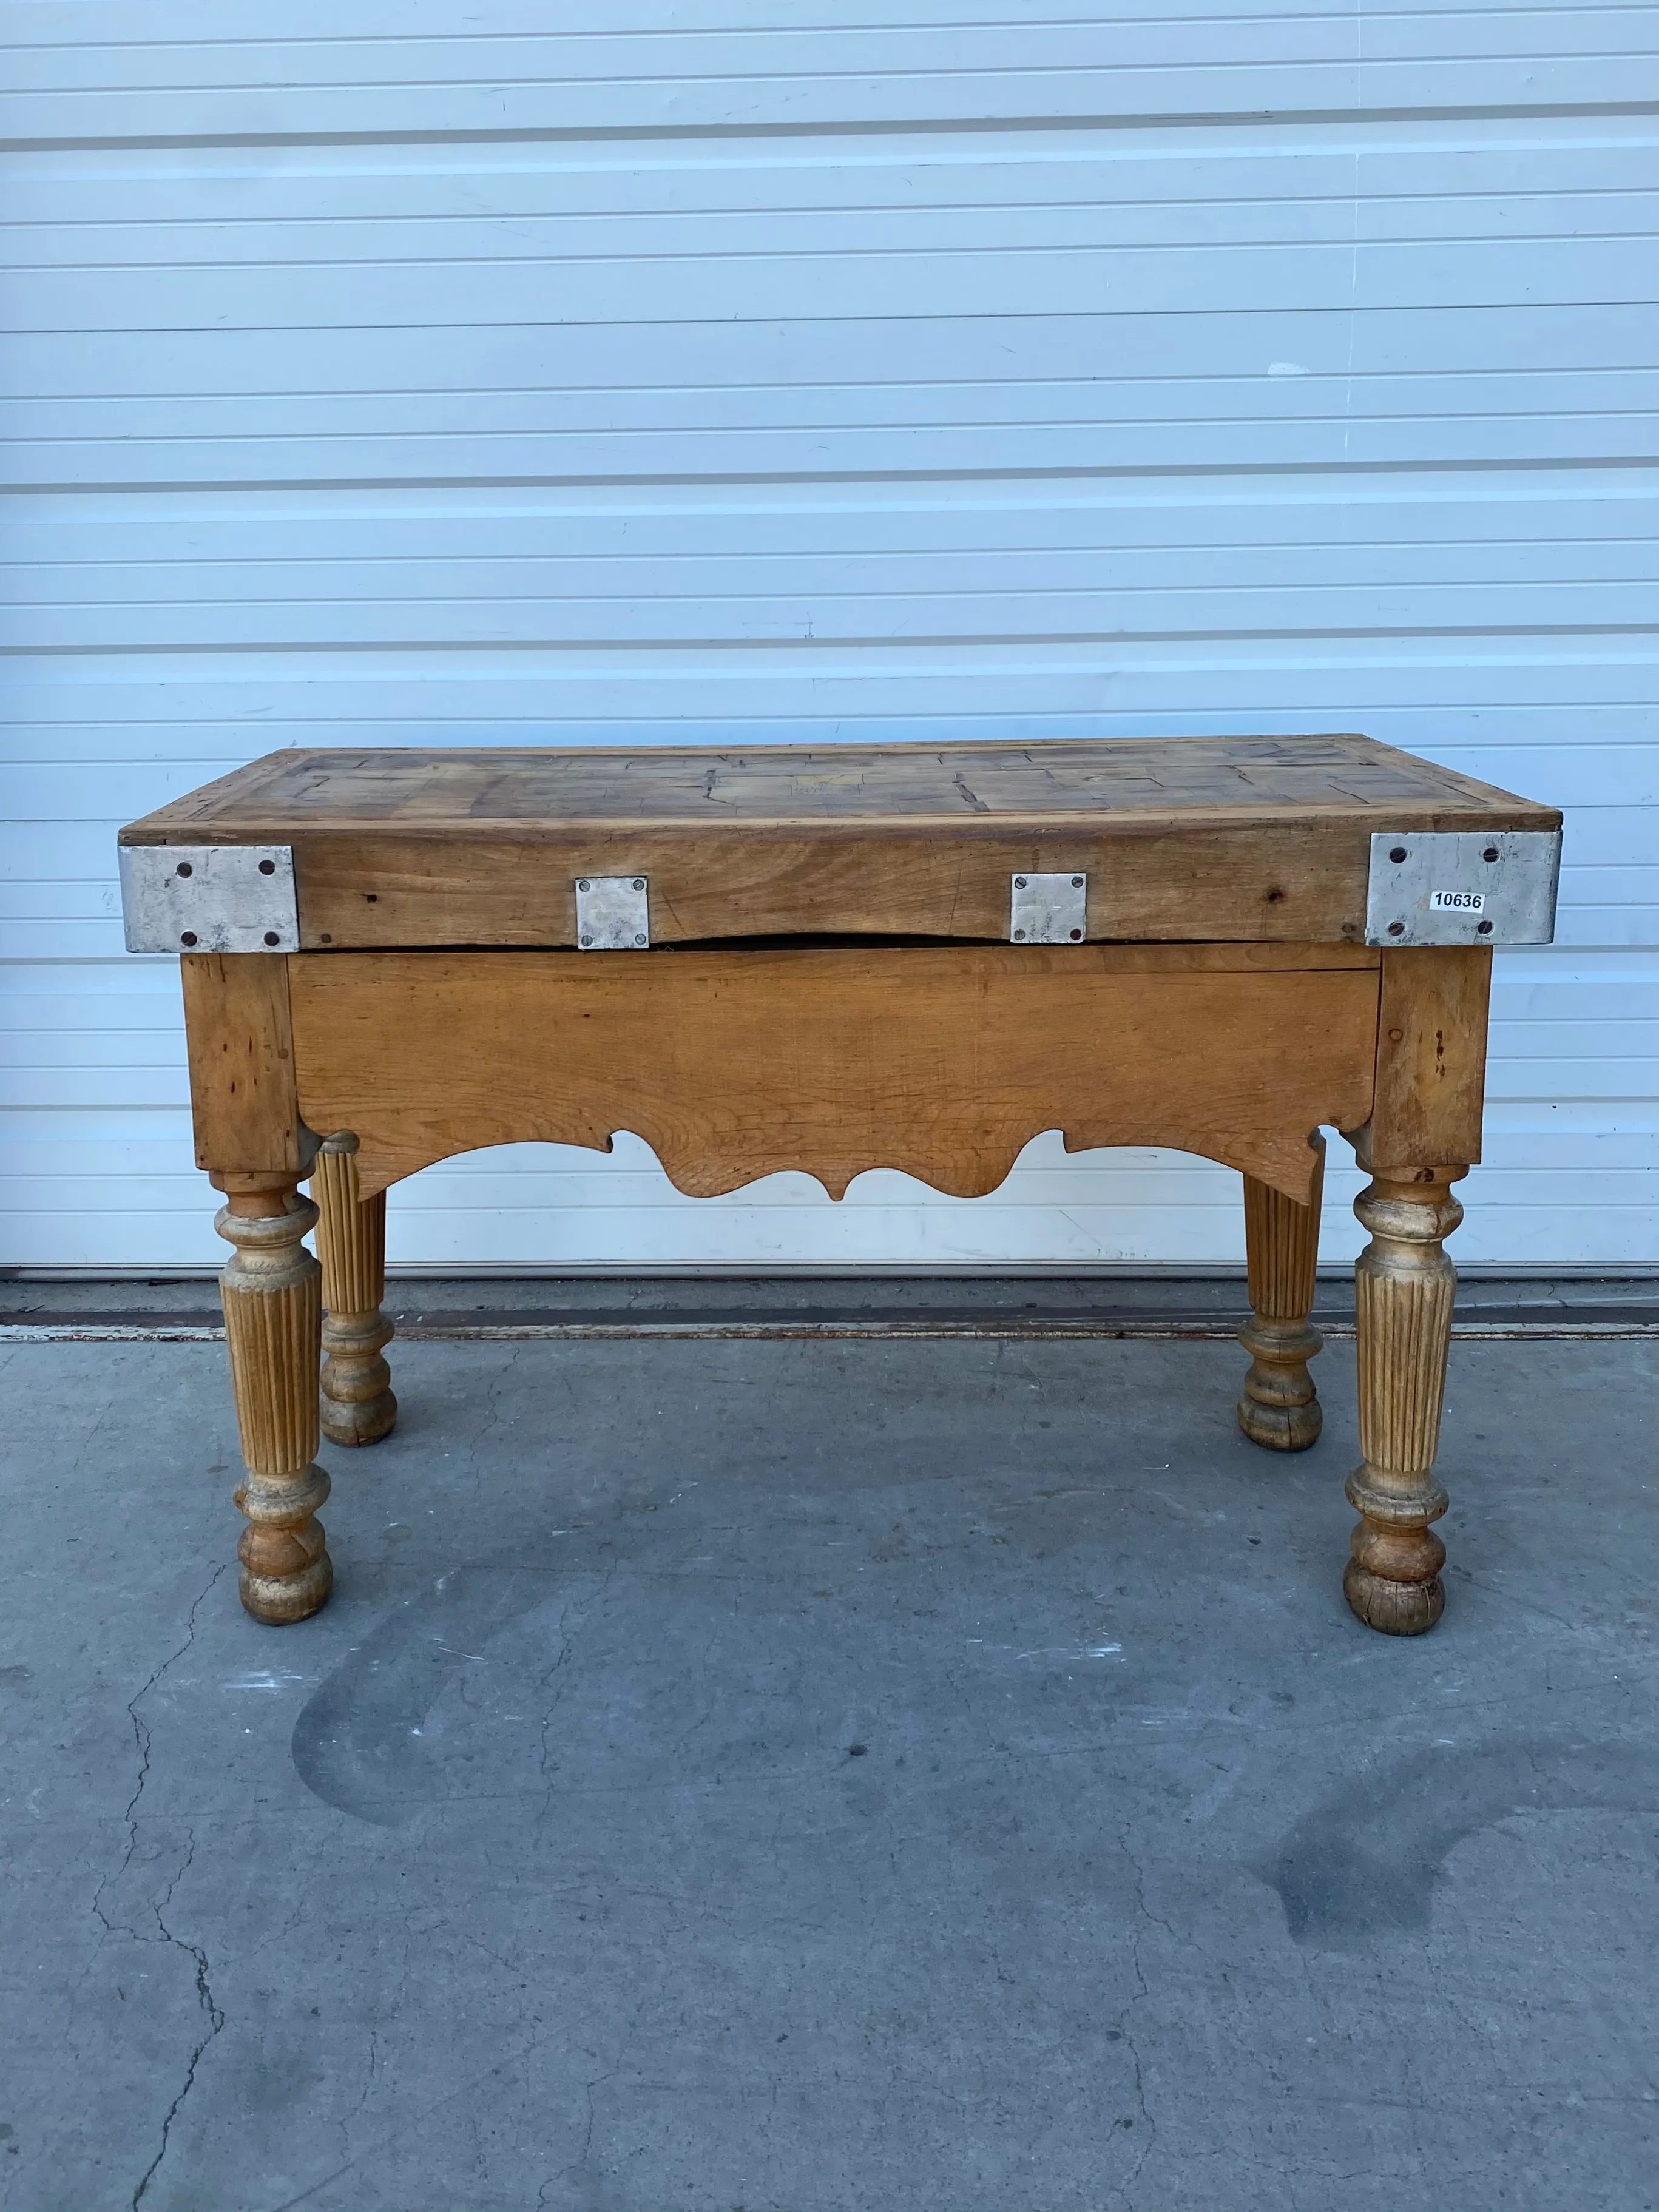
[[1486, 1099], [1484, 945], [1383, 953], [1369, 1159], [1387, 1168], [1469, 1168]]

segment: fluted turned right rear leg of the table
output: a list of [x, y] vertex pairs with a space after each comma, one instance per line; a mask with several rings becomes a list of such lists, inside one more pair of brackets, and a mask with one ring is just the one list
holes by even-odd
[[1318, 1265], [1318, 1203], [1325, 1190], [1325, 1139], [1314, 1135], [1314, 1192], [1307, 1206], [1245, 1175], [1245, 1256], [1252, 1318], [1239, 1329], [1250, 1354], [1239, 1427], [1270, 1451], [1307, 1451], [1323, 1427], [1307, 1363], [1325, 1338], [1307, 1321]]

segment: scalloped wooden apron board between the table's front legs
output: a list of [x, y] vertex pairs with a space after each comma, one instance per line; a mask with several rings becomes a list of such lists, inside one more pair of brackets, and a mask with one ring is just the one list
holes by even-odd
[[958, 1197], [1060, 1128], [1168, 1144], [1307, 1199], [1321, 1121], [1371, 1104], [1376, 969], [1261, 949], [296, 953], [312, 1124], [363, 1192], [518, 1139], [633, 1130], [695, 1197], [902, 1168]]

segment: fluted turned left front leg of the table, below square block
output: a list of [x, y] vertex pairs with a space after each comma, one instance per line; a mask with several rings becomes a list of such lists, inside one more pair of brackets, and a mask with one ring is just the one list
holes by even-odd
[[248, 1515], [241, 1601], [259, 1621], [303, 1621], [334, 1579], [316, 1520], [327, 1498], [316, 1464], [321, 1267], [301, 1243], [314, 1223], [316, 1208], [292, 1183], [232, 1190], [215, 1221], [234, 1245], [219, 1290], [248, 1462], [237, 1491]]

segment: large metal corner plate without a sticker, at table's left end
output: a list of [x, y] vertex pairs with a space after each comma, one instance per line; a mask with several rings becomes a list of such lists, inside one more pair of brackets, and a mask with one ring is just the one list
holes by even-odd
[[296, 953], [292, 845], [122, 845], [131, 953]]

